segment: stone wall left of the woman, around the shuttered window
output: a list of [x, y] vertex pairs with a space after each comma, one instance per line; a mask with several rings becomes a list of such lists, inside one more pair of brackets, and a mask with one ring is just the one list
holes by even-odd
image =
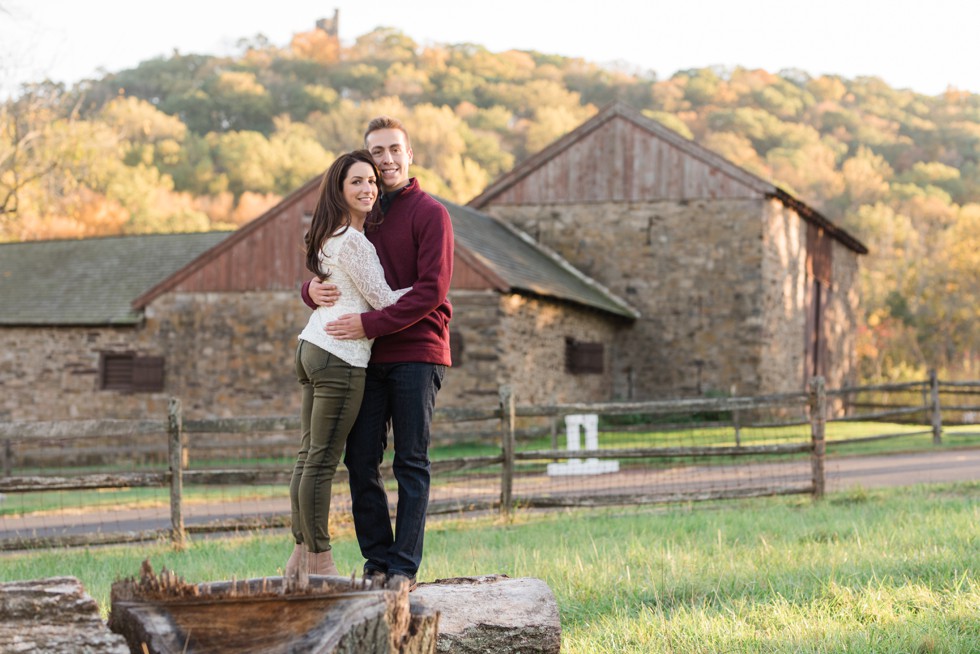
[[[298, 410], [296, 335], [309, 315], [294, 293], [167, 294], [137, 327], [0, 329], [0, 419], [188, 418]], [[100, 352], [165, 359], [164, 390], [99, 390]]]

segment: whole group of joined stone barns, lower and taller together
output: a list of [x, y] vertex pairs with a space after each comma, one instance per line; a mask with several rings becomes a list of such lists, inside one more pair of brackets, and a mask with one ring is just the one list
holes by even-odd
[[[0, 245], [0, 420], [283, 415], [310, 180], [236, 232]], [[456, 235], [440, 406], [854, 380], [853, 236], [622, 104], [518, 165]]]

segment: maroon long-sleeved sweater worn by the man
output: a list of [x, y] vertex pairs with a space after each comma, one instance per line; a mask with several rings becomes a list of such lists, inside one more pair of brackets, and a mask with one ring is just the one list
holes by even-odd
[[[447, 295], [453, 276], [453, 225], [449, 212], [414, 177], [392, 201], [381, 226], [366, 231], [378, 251], [391, 288], [412, 290], [395, 304], [361, 314], [368, 338], [376, 339], [371, 363], [451, 365]], [[309, 282], [303, 300], [310, 307]]]

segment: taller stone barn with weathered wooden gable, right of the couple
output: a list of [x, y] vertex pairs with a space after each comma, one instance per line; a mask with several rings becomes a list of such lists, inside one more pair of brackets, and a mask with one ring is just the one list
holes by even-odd
[[855, 381], [853, 236], [621, 103], [469, 204], [554, 250], [641, 314], [613, 397], [795, 392]]

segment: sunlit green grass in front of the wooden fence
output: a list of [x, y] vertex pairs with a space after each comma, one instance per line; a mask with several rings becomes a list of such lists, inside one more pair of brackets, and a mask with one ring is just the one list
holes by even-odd
[[[188, 581], [277, 574], [287, 535], [3, 555], [0, 579], [78, 577], [108, 611], [149, 557]], [[349, 530], [341, 570], [360, 564]], [[554, 591], [563, 651], [980, 652], [980, 483], [714, 505], [439, 520], [422, 581], [505, 573]]]

